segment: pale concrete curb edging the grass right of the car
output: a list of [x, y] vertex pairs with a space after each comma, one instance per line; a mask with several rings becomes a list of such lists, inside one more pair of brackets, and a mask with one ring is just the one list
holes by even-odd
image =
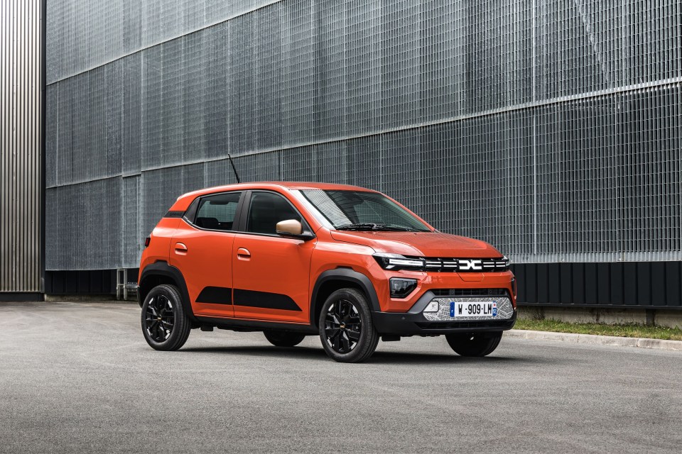
[[553, 333], [551, 331], [531, 331], [512, 329], [504, 333], [513, 339], [534, 339], [536, 341], [562, 341], [592, 345], [617, 345], [619, 347], [656, 348], [659, 350], [682, 351], [682, 341], [661, 341], [646, 338], [619, 338], [616, 336], [596, 336], [594, 334]]

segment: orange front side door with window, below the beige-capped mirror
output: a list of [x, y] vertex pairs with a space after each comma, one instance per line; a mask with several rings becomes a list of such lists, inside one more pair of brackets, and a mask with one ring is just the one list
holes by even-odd
[[281, 194], [251, 193], [246, 233], [232, 245], [234, 316], [310, 323], [310, 257], [315, 240], [283, 238], [276, 223], [305, 219]]

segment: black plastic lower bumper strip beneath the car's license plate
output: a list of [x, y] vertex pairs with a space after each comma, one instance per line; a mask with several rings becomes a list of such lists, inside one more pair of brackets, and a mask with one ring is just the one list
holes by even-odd
[[381, 335], [431, 336], [454, 333], [506, 331], [516, 323], [516, 310], [511, 319], [475, 321], [428, 321], [421, 313], [372, 312], [374, 327]]

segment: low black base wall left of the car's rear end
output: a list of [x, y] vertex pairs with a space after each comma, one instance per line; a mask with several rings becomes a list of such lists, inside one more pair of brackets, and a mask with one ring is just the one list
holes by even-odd
[[[129, 281], [137, 275], [137, 268], [129, 268]], [[116, 270], [45, 271], [45, 294], [116, 294]]]

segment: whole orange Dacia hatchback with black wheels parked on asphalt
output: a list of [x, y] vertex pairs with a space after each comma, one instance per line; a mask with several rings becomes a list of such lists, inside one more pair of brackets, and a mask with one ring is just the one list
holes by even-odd
[[177, 350], [190, 330], [262, 331], [293, 347], [318, 335], [334, 360], [383, 341], [445, 335], [465, 356], [516, 321], [509, 260], [440, 233], [397, 201], [341, 184], [232, 184], [180, 196], [145, 240], [144, 338]]

